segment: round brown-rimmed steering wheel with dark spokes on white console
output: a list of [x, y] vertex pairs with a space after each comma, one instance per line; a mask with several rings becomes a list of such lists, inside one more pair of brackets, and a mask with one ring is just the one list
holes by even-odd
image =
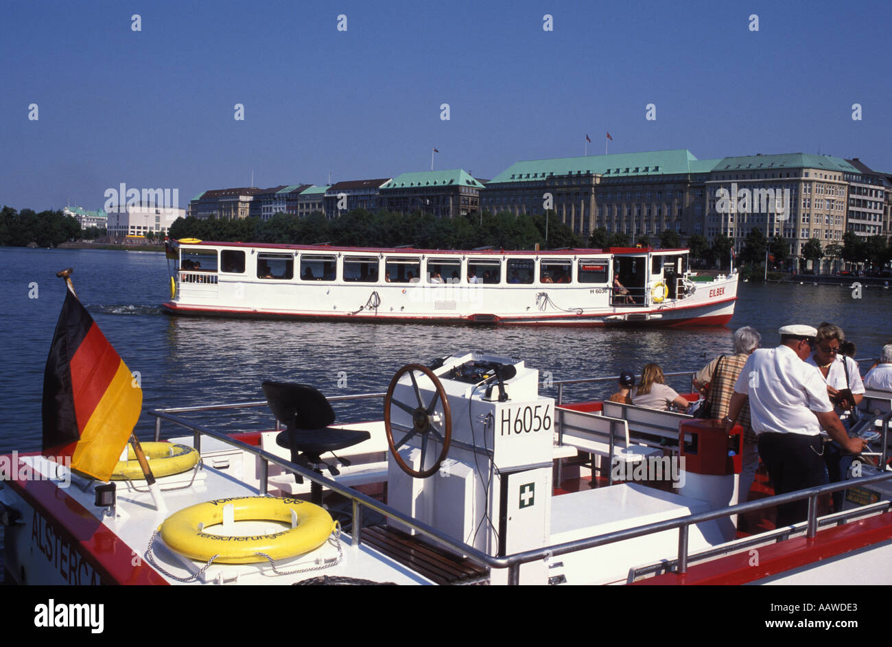
[[[421, 390], [418, 388], [418, 381], [415, 377], [416, 372], [424, 374], [434, 384], [434, 396], [427, 404], [425, 404]], [[396, 389], [397, 383], [406, 373], [409, 373], [409, 378], [412, 380], [412, 390], [415, 392], [416, 404], [400, 402], [393, 397], [393, 391]], [[442, 402], [442, 415], [436, 413], [438, 402]], [[397, 407], [408, 413], [412, 417], [412, 426], [407, 427], [406, 425], [393, 422], [391, 420], [392, 407]], [[434, 375], [434, 371], [421, 364], [407, 364], [396, 372], [390, 386], [387, 387], [387, 395], [384, 397], [384, 430], [387, 432], [387, 444], [390, 446], [393, 459], [396, 460], [402, 471], [415, 478], [433, 477], [437, 473], [440, 469], [440, 464], [446, 459], [446, 454], [449, 453], [449, 446], [452, 440], [452, 414], [446, 392], [443, 390], [440, 380]], [[394, 439], [394, 432], [396, 432], [396, 439]], [[400, 455], [400, 448], [416, 435], [421, 436], [421, 459], [418, 461], [421, 469], [411, 469]], [[427, 442], [431, 436], [442, 443], [442, 451], [434, 465], [424, 469]]]

